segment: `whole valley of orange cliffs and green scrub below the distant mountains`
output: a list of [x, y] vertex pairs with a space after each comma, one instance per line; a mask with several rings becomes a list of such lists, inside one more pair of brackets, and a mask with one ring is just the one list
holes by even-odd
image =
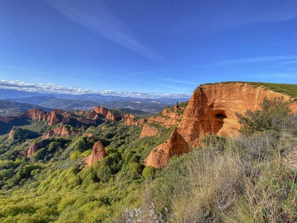
[[[219, 211], [220, 204], [213, 199], [204, 200], [212, 210], [209, 216], [205, 215], [208, 208], [198, 201], [211, 195], [241, 196], [246, 202], [246, 186], [256, 177], [258, 184], [250, 185], [256, 193], [255, 187], [269, 180], [262, 177], [272, 175], [278, 182], [272, 193], [279, 196], [274, 205], [280, 216], [295, 218], [281, 205], [295, 201], [290, 199], [296, 193], [296, 189], [285, 190], [296, 184], [297, 171], [291, 166], [297, 103], [290, 94], [252, 83], [203, 84], [189, 101], [150, 115], [95, 104], [90, 111], [65, 111], [61, 108], [72, 99], [55, 98], [45, 105], [52, 100], [61, 106], [0, 117], [1, 222], [226, 220], [233, 217], [231, 212]], [[281, 162], [277, 170], [275, 156]], [[257, 175], [253, 168], [259, 169]], [[247, 170], [250, 176], [241, 175]], [[219, 178], [212, 178], [217, 174]], [[219, 195], [215, 188], [226, 192]], [[268, 195], [263, 190], [263, 196]], [[195, 199], [197, 207], [187, 207], [186, 198]], [[242, 214], [236, 202], [241, 201], [229, 203], [228, 209]]]

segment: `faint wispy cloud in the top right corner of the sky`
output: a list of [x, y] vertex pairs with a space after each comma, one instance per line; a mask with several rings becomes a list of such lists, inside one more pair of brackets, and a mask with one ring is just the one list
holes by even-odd
[[276, 2], [278, 1], [201, 1], [198, 7], [200, 13], [189, 12], [184, 17], [177, 17], [172, 29], [176, 32], [193, 32], [193, 29], [198, 29], [202, 35], [209, 31], [238, 28], [259, 22], [283, 22], [297, 17], [297, 4], [294, 0], [283, 0], [281, 5]]

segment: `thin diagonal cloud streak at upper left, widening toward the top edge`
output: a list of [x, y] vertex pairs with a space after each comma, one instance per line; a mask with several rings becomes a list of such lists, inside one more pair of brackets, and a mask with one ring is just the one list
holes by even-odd
[[157, 61], [165, 60], [157, 51], [141, 43], [132, 30], [115, 16], [102, 0], [47, 0], [47, 2], [70, 20], [87, 27], [107, 40], [141, 56]]

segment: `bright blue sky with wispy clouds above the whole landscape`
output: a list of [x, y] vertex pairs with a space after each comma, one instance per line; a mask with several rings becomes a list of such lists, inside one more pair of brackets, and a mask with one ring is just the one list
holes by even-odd
[[164, 94], [297, 84], [297, 1], [1, 0], [0, 80]]

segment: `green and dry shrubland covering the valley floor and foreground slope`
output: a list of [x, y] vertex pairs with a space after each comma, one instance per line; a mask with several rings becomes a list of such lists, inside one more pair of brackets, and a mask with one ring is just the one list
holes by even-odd
[[[140, 138], [141, 128], [109, 121], [86, 130], [95, 140], [49, 139], [29, 158], [17, 153], [23, 140], [0, 136], [0, 222], [297, 221], [296, 172], [284, 162], [297, 145], [297, 114], [265, 99], [238, 117], [240, 137], [204, 137], [162, 170], [143, 160], [174, 127]], [[106, 158], [84, 167], [98, 140]]]

